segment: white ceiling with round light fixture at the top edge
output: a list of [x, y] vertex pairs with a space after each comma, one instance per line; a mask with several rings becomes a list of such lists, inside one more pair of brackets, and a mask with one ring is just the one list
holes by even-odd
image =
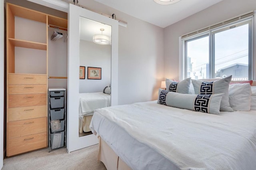
[[[94, 1], [165, 28], [222, 0], [181, 0], [171, 5], [156, 4], [153, 0]], [[118, 18], [118, 16], [116, 16], [116, 18]]]

